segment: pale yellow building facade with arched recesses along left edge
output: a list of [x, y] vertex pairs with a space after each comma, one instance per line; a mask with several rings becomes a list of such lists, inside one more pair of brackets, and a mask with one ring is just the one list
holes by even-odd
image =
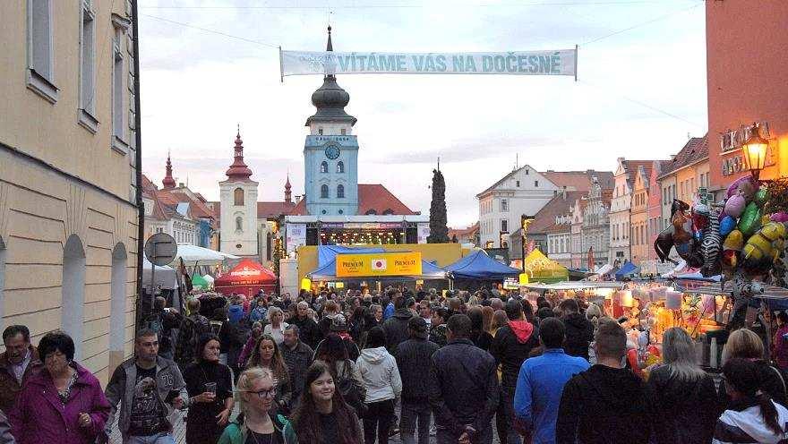
[[34, 345], [64, 329], [102, 382], [133, 351], [130, 15], [126, 1], [0, 2], [0, 329], [24, 324]]

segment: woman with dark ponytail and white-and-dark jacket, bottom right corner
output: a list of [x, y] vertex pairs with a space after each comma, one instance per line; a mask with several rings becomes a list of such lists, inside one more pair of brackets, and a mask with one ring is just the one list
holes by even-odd
[[723, 365], [731, 402], [717, 420], [713, 442], [776, 443], [788, 438], [784, 430], [788, 409], [760, 389], [758, 373], [758, 364], [743, 358], [729, 359]]

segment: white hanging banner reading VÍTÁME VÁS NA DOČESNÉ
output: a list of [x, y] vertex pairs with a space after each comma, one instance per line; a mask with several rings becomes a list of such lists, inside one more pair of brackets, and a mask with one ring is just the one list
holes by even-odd
[[279, 51], [286, 75], [307, 74], [512, 74], [577, 78], [578, 49], [506, 53], [337, 53]]

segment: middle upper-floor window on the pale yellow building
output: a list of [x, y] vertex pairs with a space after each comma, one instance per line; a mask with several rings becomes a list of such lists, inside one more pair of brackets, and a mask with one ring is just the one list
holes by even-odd
[[80, 23], [80, 124], [90, 132], [97, 132], [96, 120], [96, 15], [90, 0], [81, 1]]

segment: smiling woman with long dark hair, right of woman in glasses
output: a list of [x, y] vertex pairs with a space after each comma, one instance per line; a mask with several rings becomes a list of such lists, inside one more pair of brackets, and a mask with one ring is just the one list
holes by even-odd
[[306, 371], [301, 403], [285, 426], [286, 444], [361, 444], [361, 428], [347, 406], [329, 366], [314, 362]]

